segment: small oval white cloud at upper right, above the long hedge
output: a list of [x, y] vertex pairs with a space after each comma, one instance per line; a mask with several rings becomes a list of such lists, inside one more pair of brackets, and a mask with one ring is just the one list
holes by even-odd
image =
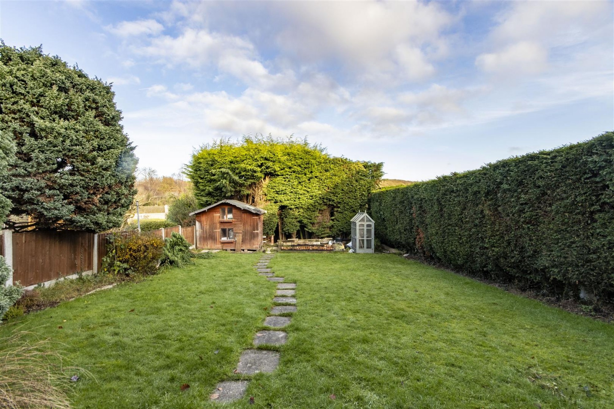
[[541, 45], [522, 41], [500, 52], [478, 55], [475, 64], [483, 71], [516, 76], [539, 74], [547, 67], [548, 52]]

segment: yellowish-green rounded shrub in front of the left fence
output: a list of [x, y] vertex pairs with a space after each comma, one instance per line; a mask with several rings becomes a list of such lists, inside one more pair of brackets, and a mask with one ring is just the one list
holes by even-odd
[[161, 238], [151, 233], [117, 233], [108, 240], [103, 271], [126, 276], [156, 273], [164, 247]]

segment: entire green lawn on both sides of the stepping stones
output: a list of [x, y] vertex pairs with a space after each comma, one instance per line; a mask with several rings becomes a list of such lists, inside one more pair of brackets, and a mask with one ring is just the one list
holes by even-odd
[[[77, 383], [76, 407], [220, 407], [208, 395], [238, 377], [274, 294], [257, 258], [219, 254], [19, 324], [96, 376]], [[278, 370], [252, 378], [255, 405], [225, 407], [614, 407], [614, 325], [395, 255], [284, 253], [271, 266], [297, 282], [289, 341]]]

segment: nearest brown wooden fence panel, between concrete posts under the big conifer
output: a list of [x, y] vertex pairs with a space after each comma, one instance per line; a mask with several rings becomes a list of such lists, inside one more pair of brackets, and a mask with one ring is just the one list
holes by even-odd
[[13, 233], [13, 281], [22, 286], [69, 276], [93, 267], [93, 233]]

